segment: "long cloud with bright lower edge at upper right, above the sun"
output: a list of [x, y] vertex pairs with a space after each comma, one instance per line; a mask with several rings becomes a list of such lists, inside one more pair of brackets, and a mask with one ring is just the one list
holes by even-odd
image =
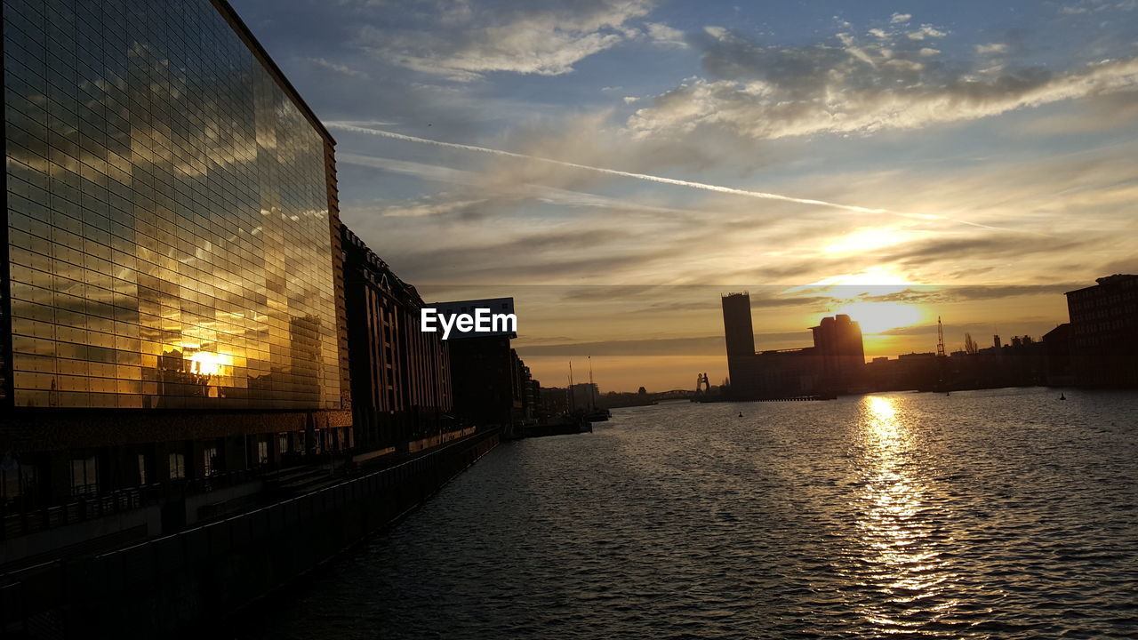
[[[926, 28], [927, 27], [927, 28]], [[922, 27], [926, 34], [940, 33]], [[1025, 107], [1138, 88], [1138, 58], [979, 73], [929, 65], [904, 40], [859, 43], [849, 34], [811, 47], [762, 46], [726, 30], [698, 42], [709, 77], [685, 81], [627, 121], [636, 138], [696, 130], [750, 139], [868, 133], [971, 121]], [[925, 61], [921, 61], [921, 60]]]

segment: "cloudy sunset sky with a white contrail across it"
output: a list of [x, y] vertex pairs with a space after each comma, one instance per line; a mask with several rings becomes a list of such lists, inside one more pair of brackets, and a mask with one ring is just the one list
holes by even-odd
[[428, 302], [513, 296], [543, 386], [1039, 337], [1138, 272], [1138, 0], [233, 0], [337, 139], [341, 220]]

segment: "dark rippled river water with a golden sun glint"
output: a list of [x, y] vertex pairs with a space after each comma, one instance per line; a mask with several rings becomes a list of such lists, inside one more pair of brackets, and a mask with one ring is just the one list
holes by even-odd
[[501, 446], [240, 635], [1138, 638], [1138, 393], [1057, 396], [618, 410]]

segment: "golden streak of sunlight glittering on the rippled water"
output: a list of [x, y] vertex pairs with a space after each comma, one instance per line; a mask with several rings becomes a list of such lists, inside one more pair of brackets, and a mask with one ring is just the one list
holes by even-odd
[[933, 490], [914, 467], [914, 434], [905, 421], [902, 399], [864, 399], [858, 448], [860, 482], [853, 512], [861, 543], [856, 577], [887, 596], [859, 613], [884, 632], [913, 630], [947, 615], [955, 605], [953, 574], [935, 539]]

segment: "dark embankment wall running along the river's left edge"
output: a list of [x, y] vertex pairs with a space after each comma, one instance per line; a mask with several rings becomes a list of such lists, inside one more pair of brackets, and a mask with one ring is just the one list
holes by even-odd
[[168, 638], [236, 608], [398, 519], [498, 444], [473, 434], [407, 462], [97, 556], [0, 576], [0, 638]]

